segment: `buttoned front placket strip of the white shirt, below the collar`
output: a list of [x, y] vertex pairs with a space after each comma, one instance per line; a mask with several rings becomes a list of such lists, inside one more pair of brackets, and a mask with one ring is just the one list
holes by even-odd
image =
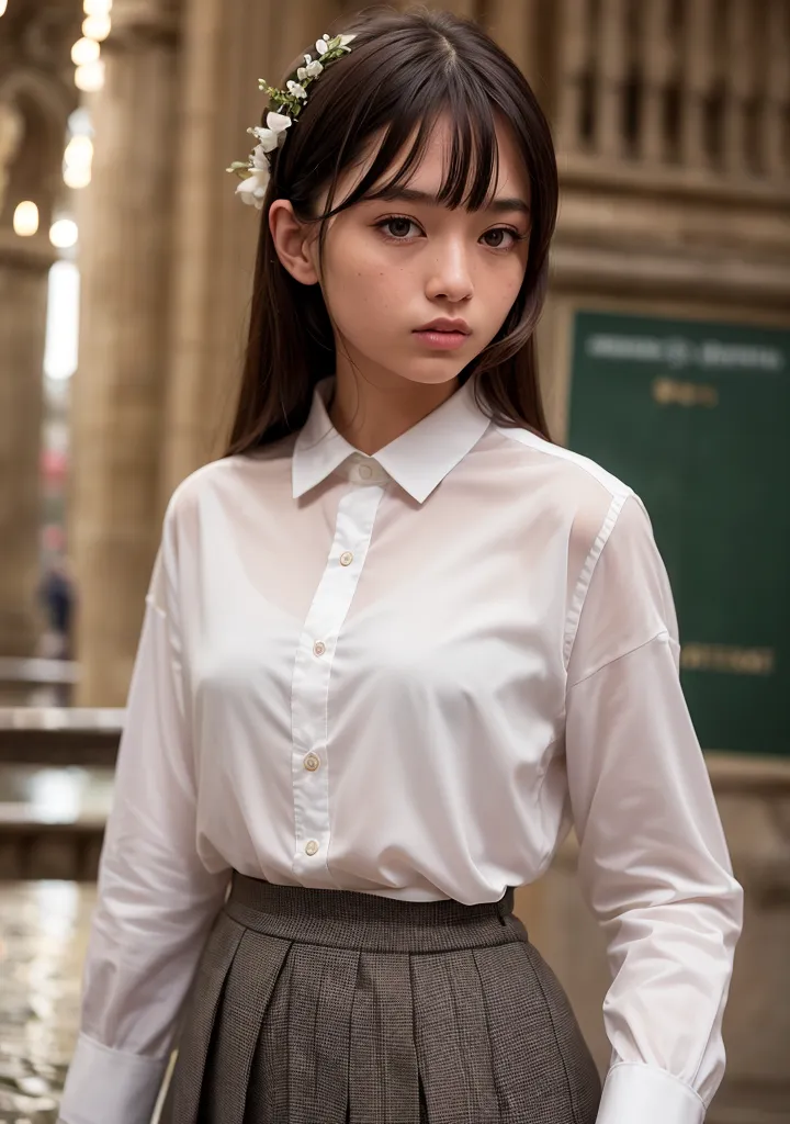
[[329, 683], [337, 641], [370, 546], [383, 482], [357, 466], [340, 499], [326, 569], [299, 638], [291, 687], [293, 873], [303, 885], [329, 879]]

